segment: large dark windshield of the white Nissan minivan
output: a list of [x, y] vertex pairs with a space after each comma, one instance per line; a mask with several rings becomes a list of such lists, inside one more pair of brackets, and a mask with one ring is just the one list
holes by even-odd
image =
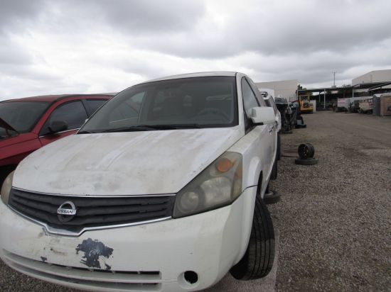
[[235, 77], [194, 77], [126, 89], [79, 133], [231, 127], [237, 120]]

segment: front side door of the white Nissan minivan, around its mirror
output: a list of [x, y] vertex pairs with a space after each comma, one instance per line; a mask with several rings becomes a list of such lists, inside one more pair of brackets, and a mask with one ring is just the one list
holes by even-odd
[[[272, 164], [275, 155], [275, 146], [274, 146], [274, 125], [252, 125], [250, 120], [251, 108], [257, 106], [266, 106], [262, 96], [261, 99], [257, 99], [254, 89], [250, 86], [250, 82], [243, 77], [242, 78], [242, 98], [243, 98], [243, 107], [245, 109], [244, 118], [245, 118], [245, 133], [246, 135], [255, 135], [255, 145], [253, 149], [255, 155], [261, 158], [262, 164], [264, 165], [264, 174], [265, 177], [269, 177], [272, 172]], [[260, 95], [260, 94], [259, 94]], [[262, 100], [262, 101], [261, 101]], [[261, 104], [262, 103], [262, 104]], [[276, 136], [277, 139], [277, 136]]]

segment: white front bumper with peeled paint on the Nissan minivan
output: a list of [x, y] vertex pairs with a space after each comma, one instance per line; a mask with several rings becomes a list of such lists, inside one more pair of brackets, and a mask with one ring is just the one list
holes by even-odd
[[[0, 257], [24, 274], [90, 291], [195, 291], [245, 253], [256, 187], [230, 206], [158, 223], [53, 235], [0, 201]], [[251, 211], [250, 211], [251, 210]], [[185, 271], [198, 281], [188, 283]]]

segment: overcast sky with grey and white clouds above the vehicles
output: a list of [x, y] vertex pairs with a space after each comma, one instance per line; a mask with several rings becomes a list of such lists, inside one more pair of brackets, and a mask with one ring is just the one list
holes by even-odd
[[350, 84], [391, 69], [390, 0], [0, 0], [0, 100], [239, 71]]

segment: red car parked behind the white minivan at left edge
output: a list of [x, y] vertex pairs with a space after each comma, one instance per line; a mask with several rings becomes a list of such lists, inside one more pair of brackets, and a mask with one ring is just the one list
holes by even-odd
[[75, 133], [112, 96], [34, 96], [0, 102], [0, 186], [24, 157]]

